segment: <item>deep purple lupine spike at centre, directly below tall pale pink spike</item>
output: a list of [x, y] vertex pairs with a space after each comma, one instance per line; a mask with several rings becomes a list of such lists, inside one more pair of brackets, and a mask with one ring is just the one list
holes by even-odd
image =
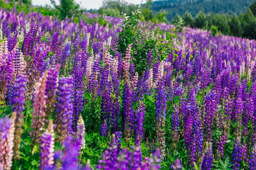
[[124, 135], [125, 141], [128, 142], [131, 137], [131, 130], [133, 130], [133, 122], [134, 122], [134, 111], [132, 107], [132, 101], [134, 98], [134, 94], [131, 91], [131, 88], [128, 85], [128, 82], [125, 83], [125, 88], [123, 92], [123, 112], [122, 112], [122, 119], [123, 119], [123, 127], [124, 127]]

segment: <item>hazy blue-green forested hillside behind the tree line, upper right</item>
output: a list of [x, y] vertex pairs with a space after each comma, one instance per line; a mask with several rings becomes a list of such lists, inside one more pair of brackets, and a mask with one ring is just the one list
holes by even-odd
[[205, 13], [240, 14], [253, 2], [255, 0], [158, 0], [152, 3], [151, 9], [154, 13], [161, 9], [166, 10], [167, 20], [172, 20], [175, 14], [183, 16], [186, 11], [189, 11], [193, 17], [200, 10], [204, 10]]

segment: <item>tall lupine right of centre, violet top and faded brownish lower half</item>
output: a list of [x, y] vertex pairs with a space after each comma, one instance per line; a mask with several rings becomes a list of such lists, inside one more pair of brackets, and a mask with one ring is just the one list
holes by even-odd
[[162, 84], [158, 84], [158, 93], [156, 96], [156, 136], [157, 142], [159, 142], [159, 148], [161, 152], [161, 159], [165, 156], [165, 121], [166, 121], [166, 89]]

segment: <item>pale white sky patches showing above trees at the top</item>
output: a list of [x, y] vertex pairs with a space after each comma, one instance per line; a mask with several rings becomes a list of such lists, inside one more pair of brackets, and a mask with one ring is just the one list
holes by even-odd
[[[102, 5], [102, 0], [75, 0], [77, 3], [81, 2], [81, 7], [85, 9], [99, 9], [99, 7]], [[128, 3], [134, 3], [134, 4], [140, 4], [141, 0], [126, 0]], [[143, 0], [145, 1], [145, 0]], [[55, 2], [58, 4], [59, 0], [55, 0]], [[33, 5], [45, 5], [45, 4], [51, 4], [50, 0], [32, 0]]]

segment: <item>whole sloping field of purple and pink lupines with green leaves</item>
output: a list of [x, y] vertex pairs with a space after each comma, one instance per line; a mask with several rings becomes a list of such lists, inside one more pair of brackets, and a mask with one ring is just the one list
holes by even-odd
[[0, 9], [0, 170], [256, 170], [256, 41]]

